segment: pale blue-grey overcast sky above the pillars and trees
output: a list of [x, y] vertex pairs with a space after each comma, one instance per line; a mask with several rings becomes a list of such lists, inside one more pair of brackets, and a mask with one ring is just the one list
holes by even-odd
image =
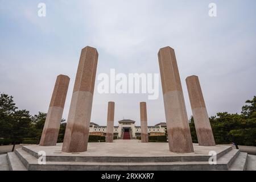
[[[38, 3], [46, 3], [46, 17]], [[208, 15], [216, 3], [217, 17]], [[209, 116], [240, 113], [256, 94], [256, 1], [7, 1], [0, 0], [0, 92], [19, 109], [47, 112], [56, 76], [71, 78], [63, 118], [67, 119], [81, 49], [97, 48], [97, 75], [159, 73], [159, 48], [175, 49], [188, 118], [192, 115], [185, 78], [199, 76]], [[92, 121], [106, 125], [108, 101], [117, 121], [139, 122], [147, 102], [148, 125], [165, 121], [159, 99], [147, 94], [98, 94]]]

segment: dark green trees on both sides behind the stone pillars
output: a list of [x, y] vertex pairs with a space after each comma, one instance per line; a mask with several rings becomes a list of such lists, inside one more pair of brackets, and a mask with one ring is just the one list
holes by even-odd
[[[0, 95], [0, 144], [38, 144], [43, 131], [46, 113], [31, 115], [28, 110], [18, 110], [13, 96]], [[241, 114], [217, 113], [209, 118], [217, 144], [236, 143], [256, 146], [256, 96], [246, 101]], [[193, 142], [197, 143], [193, 117], [189, 123]], [[58, 142], [63, 142], [66, 122], [61, 120]]]

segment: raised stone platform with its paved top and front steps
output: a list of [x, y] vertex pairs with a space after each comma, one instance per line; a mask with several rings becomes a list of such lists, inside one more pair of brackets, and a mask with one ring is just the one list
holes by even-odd
[[[88, 143], [88, 151], [61, 152], [57, 146], [23, 146], [7, 154], [13, 170], [245, 170], [247, 153], [230, 146], [203, 147], [195, 152], [170, 152], [168, 143], [141, 143], [139, 140], [114, 140], [113, 143]], [[38, 164], [38, 152], [46, 152], [46, 164]], [[217, 164], [210, 165], [209, 151], [216, 151]]]

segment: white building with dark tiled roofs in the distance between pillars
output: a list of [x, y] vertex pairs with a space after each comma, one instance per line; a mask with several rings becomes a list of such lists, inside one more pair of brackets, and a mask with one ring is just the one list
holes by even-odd
[[[164, 135], [166, 133], [166, 123], [158, 123], [155, 126], [148, 126], [148, 135]], [[103, 133], [106, 135], [106, 126], [99, 126], [96, 123], [90, 123], [90, 133]], [[126, 134], [125, 134], [126, 133]], [[129, 138], [124, 138], [123, 135], [130, 135]], [[141, 126], [136, 126], [135, 121], [123, 119], [118, 121], [118, 126], [114, 126], [114, 136], [118, 139], [135, 139], [141, 136]]]

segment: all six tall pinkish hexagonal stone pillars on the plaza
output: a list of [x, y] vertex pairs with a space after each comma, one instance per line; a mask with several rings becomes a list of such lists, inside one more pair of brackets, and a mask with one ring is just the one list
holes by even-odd
[[[174, 49], [171, 47], [161, 48], [158, 59], [170, 151], [193, 152], [191, 132]], [[82, 49], [69, 108], [62, 147], [63, 152], [84, 152], [87, 150], [97, 62], [98, 52], [96, 48], [85, 47]], [[199, 78], [197, 76], [187, 77], [186, 83], [199, 145], [214, 146], [214, 137]], [[60, 75], [57, 77], [40, 139], [40, 146], [56, 145], [68, 84], [68, 76]], [[140, 103], [140, 113], [141, 141], [148, 142], [146, 102]], [[114, 102], [108, 104], [107, 123], [106, 142], [113, 142]]]

